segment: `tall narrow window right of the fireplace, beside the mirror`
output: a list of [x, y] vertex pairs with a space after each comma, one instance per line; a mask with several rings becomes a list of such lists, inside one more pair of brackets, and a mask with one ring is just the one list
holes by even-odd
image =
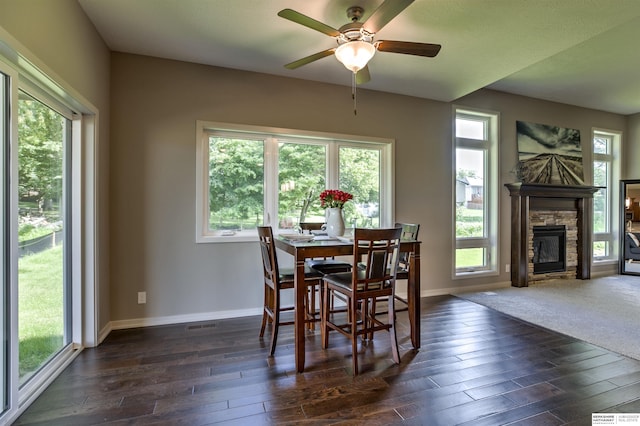
[[596, 130], [593, 133], [593, 259], [616, 260], [616, 182], [620, 179], [620, 134]]

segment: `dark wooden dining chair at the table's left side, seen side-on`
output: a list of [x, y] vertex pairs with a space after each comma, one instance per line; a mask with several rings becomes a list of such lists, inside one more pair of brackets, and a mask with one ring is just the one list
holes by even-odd
[[[276, 247], [273, 241], [273, 230], [270, 226], [258, 226], [258, 237], [260, 240], [260, 251], [262, 254], [262, 271], [264, 275], [264, 308], [262, 312], [262, 326], [260, 327], [260, 337], [264, 336], [267, 323], [271, 324], [271, 344], [269, 347], [269, 356], [273, 356], [276, 350], [276, 342], [278, 340], [278, 329], [281, 325], [293, 325], [294, 320], [281, 321], [280, 314], [286, 311], [293, 311], [295, 307], [282, 306], [282, 293], [284, 290], [293, 290], [294, 270], [289, 268], [280, 269], [278, 266], [278, 257], [276, 256]], [[305, 283], [308, 287], [308, 293], [319, 290], [322, 285], [322, 274], [305, 266]], [[309, 298], [305, 298], [305, 304], [302, 307], [305, 310], [305, 318], [309, 324], [320, 322], [319, 312], [315, 309], [314, 304], [311, 305]]]

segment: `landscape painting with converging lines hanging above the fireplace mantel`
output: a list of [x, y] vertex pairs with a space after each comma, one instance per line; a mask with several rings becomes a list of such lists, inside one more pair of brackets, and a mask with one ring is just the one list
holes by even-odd
[[579, 130], [524, 121], [516, 130], [521, 182], [584, 185]]

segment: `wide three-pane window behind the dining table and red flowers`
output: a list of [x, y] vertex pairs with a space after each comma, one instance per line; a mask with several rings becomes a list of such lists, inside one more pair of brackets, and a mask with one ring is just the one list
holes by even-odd
[[198, 129], [198, 242], [253, 240], [262, 224], [324, 222], [319, 195], [328, 188], [354, 196], [344, 207], [347, 227], [391, 225], [390, 140], [204, 122]]

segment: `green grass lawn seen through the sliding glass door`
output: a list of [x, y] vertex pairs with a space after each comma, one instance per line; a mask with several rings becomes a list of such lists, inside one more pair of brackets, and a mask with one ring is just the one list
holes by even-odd
[[62, 245], [18, 261], [20, 377], [37, 370], [63, 345]]

